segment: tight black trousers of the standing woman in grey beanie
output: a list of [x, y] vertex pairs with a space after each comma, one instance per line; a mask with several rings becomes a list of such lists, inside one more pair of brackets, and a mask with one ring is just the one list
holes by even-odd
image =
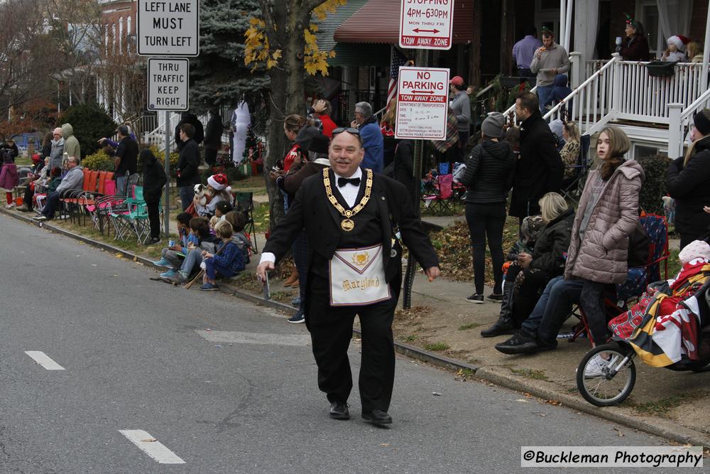
[[469, 225], [474, 255], [476, 294], [484, 292], [486, 237], [493, 260], [493, 293], [503, 293], [503, 227], [506, 225], [506, 203], [466, 203], [466, 222]]

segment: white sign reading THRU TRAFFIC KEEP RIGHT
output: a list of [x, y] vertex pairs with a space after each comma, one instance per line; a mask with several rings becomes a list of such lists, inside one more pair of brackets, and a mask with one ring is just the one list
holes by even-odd
[[190, 109], [189, 78], [187, 58], [148, 58], [148, 110]]

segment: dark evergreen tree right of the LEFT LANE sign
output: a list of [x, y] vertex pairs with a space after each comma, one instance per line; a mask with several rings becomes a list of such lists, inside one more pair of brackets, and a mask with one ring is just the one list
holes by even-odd
[[242, 41], [249, 18], [258, 13], [258, 0], [202, 0], [200, 55], [190, 59], [191, 109], [236, 106], [243, 97], [252, 104], [261, 101], [269, 85], [266, 67], [251, 73], [244, 64]]

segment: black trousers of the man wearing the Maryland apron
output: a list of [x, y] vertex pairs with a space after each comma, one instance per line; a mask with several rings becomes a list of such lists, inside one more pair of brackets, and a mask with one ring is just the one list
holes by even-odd
[[360, 317], [362, 356], [359, 377], [362, 410], [388, 411], [395, 377], [392, 320], [401, 276], [391, 281], [392, 298], [368, 306], [330, 306], [329, 281], [308, 274], [306, 327], [318, 365], [318, 388], [329, 402], [346, 402], [353, 387], [348, 346], [355, 315]]

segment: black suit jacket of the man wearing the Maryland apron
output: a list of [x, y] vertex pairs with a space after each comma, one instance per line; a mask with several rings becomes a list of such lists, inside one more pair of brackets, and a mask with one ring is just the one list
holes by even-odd
[[[332, 171], [330, 171], [330, 179], [334, 183]], [[360, 195], [365, 185], [364, 181], [361, 183]], [[402, 252], [398, 245], [395, 245], [397, 256], [391, 257], [392, 230], [395, 226], [399, 227], [404, 244], [423, 268], [439, 266], [439, 259], [432, 242], [421, 230], [420, 220], [414, 214], [409, 202], [409, 194], [402, 184], [386, 176], [374, 174], [370, 203], [379, 207], [382, 219], [382, 250], [386, 281], [392, 281], [402, 269]], [[263, 252], [275, 254], [278, 262], [290, 249], [301, 230], [305, 229], [308, 236], [309, 265], [315, 252], [326, 259], [331, 259], [342, 232], [340, 230], [342, 220], [342, 215], [326, 197], [323, 176], [322, 173], [318, 173], [303, 181], [286, 216], [271, 232]]]

